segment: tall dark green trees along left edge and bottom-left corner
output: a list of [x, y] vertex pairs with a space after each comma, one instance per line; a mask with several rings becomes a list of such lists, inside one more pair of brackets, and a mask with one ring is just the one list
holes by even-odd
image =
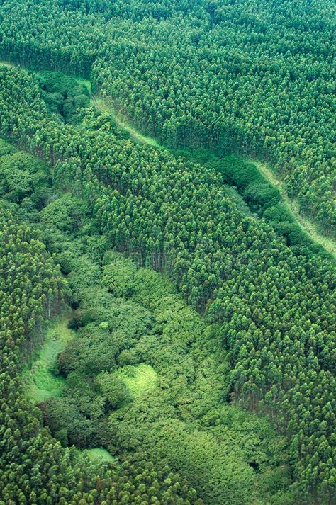
[[[157, 468], [140, 460], [138, 466], [97, 466], [74, 447], [62, 448], [41, 426], [40, 410], [25, 398], [18, 372], [23, 356], [38, 343], [45, 318], [60, 311], [70, 293], [55, 261], [60, 259], [55, 256], [57, 245], [60, 248], [57, 226], [55, 230], [51, 223], [40, 226], [36, 219], [46, 196], [53, 193], [45, 165], [4, 142], [0, 142], [0, 165], [1, 169], [15, 167], [12, 176], [23, 176], [19, 192], [13, 195], [10, 188], [1, 189], [5, 199], [0, 201], [1, 504], [201, 505], [194, 489], [167, 465]], [[29, 211], [12, 203], [24, 198], [31, 198]], [[69, 237], [62, 239], [66, 247]]]

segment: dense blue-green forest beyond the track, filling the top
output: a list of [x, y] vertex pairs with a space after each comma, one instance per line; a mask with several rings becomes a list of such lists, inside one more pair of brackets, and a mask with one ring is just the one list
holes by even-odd
[[1, 4], [3, 57], [91, 74], [167, 146], [271, 161], [302, 212], [335, 233], [335, 2]]

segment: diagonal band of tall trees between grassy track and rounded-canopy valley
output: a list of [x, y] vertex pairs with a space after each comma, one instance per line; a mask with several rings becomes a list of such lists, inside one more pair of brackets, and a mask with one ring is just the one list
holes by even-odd
[[[326, 420], [325, 411], [310, 409], [303, 397], [320, 405], [322, 383], [323, 405], [335, 402], [332, 265], [318, 256], [294, 255], [263, 220], [240, 215], [220, 189], [220, 174], [121, 140], [109, 129], [108, 120], [93, 119], [90, 128], [81, 132], [59, 125], [47, 119], [43, 103], [36, 101], [30, 76], [15, 69], [1, 72], [6, 73], [0, 81], [7, 103], [0, 122], [3, 132], [20, 138], [37, 154], [47, 153], [56, 186], [83, 195], [88, 214], [94, 216], [109, 246], [133, 254], [138, 264], [167, 271], [191, 306], [206, 310], [209, 319], [217, 322], [217, 345], [228, 351], [220, 368], [223, 397], [267, 413], [279, 424], [293, 444], [292, 471], [299, 489], [307, 495], [315, 489], [324, 499], [332, 470], [328, 451], [320, 453], [320, 437], [325, 436], [332, 450], [334, 420], [327, 417], [326, 433], [316, 431], [315, 426]], [[13, 93], [13, 79], [20, 83], [20, 94]], [[26, 129], [21, 119], [19, 133], [13, 110], [22, 103], [23, 92], [26, 103], [34, 103], [36, 118], [30, 116], [31, 106], [21, 108]], [[41, 121], [43, 139], [38, 137]], [[60, 244], [54, 241], [53, 247]], [[87, 268], [87, 273], [88, 278], [82, 273], [81, 282], [72, 283], [72, 289], [76, 283], [80, 288], [88, 285], [89, 278], [99, 278], [96, 267]], [[78, 305], [80, 296], [73, 305]], [[135, 345], [151, 327], [140, 308], [137, 317], [127, 322], [123, 310], [133, 313], [133, 304], [133, 300], [120, 301], [111, 321], [100, 316], [96, 321], [94, 305], [90, 307], [89, 319], [108, 322], [110, 330], [116, 322], [121, 329], [120, 350]], [[169, 317], [167, 309], [165, 317]], [[135, 324], [140, 322], [139, 333]], [[162, 348], [153, 356], [145, 348], [141, 361], [156, 369], [171, 354]], [[206, 409], [206, 403], [198, 409]], [[305, 431], [299, 428], [303, 417]], [[306, 453], [301, 448], [306, 448], [308, 438]], [[308, 465], [314, 455], [312, 474]]]

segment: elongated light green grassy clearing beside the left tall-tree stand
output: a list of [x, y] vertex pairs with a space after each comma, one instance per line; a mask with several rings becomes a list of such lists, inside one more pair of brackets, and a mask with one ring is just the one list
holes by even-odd
[[[43, 343], [37, 359], [27, 365], [23, 371], [23, 381], [26, 383], [26, 395], [34, 403], [44, 402], [50, 397], [60, 396], [65, 380], [53, 373], [57, 356], [74, 338], [74, 331], [68, 329], [69, 318], [62, 317], [52, 321], [45, 333]], [[30, 366], [30, 368], [29, 368]]]

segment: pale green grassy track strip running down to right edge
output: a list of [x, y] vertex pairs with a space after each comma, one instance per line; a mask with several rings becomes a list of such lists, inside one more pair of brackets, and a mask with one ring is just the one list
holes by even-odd
[[308, 217], [303, 216], [299, 212], [299, 206], [296, 200], [291, 200], [287, 193], [286, 188], [284, 188], [283, 183], [279, 181], [279, 178], [276, 176], [275, 172], [270, 168], [270, 166], [266, 163], [262, 163], [261, 161], [256, 161], [254, 159], [249, 160], [257, 166], [257, 169], [262, 173], [262, 175], [267, 178], [273, 186], [279, 189], [281, 197], [284, 199], [287, 205], [295, 217], [298, 224], [301, 228], [309, 234], [310, 238], [313, 239], [314, 242], [321, 244], [332, 256], [336, 259], [336, 242], [331, 237], [327, 237], [326, 235], [321, 234], [318, 226], [315, 225], [314, 222], [310, 221]]

